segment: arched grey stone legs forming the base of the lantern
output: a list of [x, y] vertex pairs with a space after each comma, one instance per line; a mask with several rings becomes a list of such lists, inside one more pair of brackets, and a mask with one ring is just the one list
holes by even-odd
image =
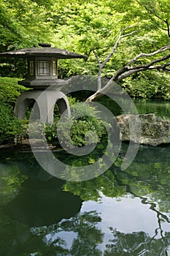
[[[65, 94], [55, 89], [24, 91], [15, 104], [15, 116], [23, 119], [28, 106], [34, 103], [32, 119], [39, 119], [45, 124], [53, 124], [54, 106], [57, 103], [60, 113], [70, 116], [69, 101]], [[64, 112], [66, 111], [66, 112]]]

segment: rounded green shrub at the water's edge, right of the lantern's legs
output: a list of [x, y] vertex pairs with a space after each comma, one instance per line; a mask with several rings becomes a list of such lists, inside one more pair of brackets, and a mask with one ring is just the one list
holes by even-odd
[[[85, 146], [98, 143], [106, 133], [105, 122], [98, 119], [98, 111], [87, 104], [79, 103], [72, 106], [72, 116], [63, 118], [52, 126], [46, 125], [45, 135], [47, 140], [55, 143], [58, 131], [61, 141], [66, 141], [66, 146]], [[108, 124], [107, 124], [108, 125]], [[94, 135], [94, 133], [96, 135]], [[71, 139], [70, 139], [71, 138]]]

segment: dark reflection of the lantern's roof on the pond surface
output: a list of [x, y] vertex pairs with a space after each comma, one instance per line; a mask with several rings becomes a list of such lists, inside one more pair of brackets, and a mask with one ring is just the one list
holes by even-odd
[[69, 219], [80, 211], [82, 200], [62, 191], [63, 182], [28, 180], [23, 193], [4, 206], [4, 213], [29, 227], [39, 227]]

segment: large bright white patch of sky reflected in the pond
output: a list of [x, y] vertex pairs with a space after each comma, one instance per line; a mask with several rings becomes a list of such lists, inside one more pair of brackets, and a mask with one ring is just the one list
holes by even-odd
[[158, 227], [156, 213], [150, 210], [149, 204], [142, 204], [138, 197], [123, 197], [117, 200], [103, 195], [101, 203], [94, 201], [83, 203], [81, 211], [90, 211], [90, 209], [101, 213], [101, 228], [104, 232], [107, 231], [107, 227], [113, 227], [122, 233], [144, 231], [152, 237]]

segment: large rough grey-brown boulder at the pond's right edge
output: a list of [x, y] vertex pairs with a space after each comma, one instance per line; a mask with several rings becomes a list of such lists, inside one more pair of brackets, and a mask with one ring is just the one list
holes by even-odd
[[[170, 122], [153, 113], [115, 117], [114, 124], [120, 129], [120, 140], [134, 141], [151, 146], [170, 143]], [[113, 126], [113, 132], [115, 125]]]

